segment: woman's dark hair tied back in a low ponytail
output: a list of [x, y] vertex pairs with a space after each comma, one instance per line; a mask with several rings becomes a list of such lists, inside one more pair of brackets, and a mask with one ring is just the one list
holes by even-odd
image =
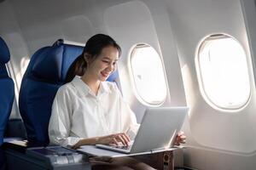
[[65, 82], [71, 82], [75, 76], [82, 77], [84, 75], [87, 67], [87, 63], [84, 59], [85, 54], [90, 54], [91, 59], [96, 59], [102, 53], [102, 49], [108, 46], [117, 48], [120, 56], [121, 48], [119, 47], [119, 44], [113, 40], [112, 37], [104, 34], [96, 34], [95, 36], [90, 37], [90, 39], [85, 44], [83, 53], [73, 61], [72, 65], [70, 65], [67, 71]]

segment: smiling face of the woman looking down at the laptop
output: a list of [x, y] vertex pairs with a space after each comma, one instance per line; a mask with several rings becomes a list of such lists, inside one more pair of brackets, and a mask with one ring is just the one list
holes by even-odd
[[[86, 56], [86, 55], [85, 55]], [[106, 81], [109, 75], [116, 70], [119, 51], [113, 46], [102, 48], [102, 53], [96, 59], [88, 59], [85, 74], [95, 81]]]

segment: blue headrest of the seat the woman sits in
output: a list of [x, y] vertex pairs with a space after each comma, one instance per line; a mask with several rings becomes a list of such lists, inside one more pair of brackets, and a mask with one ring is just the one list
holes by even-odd
[[[83, 52], [83, 47], [64, 44], [58, 40], [50, 48], [39, 49], [32, 66], [32, 74], [46, 82], [65, 82], [69, 66]], [[38, 51], [39, 51], [38, 50]]]

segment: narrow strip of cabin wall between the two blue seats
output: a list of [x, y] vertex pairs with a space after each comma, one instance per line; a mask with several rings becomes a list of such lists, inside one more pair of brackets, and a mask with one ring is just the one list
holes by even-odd
[[26, 59], [29, 54], [26, 47], [26, 40], [23, 37], [18, 20], [15, 17], [14, 8], [9, 1], [0, 3], [0, 35], [9, 46], [10, 60], [8, 71], [15, 82], [15, 101], [10, 118], [19, 118], [18, 94], [22, 75], [26, 68]]

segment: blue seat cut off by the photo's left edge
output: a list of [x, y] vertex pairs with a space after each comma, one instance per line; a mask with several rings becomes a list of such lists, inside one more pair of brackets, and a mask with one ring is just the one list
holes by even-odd
[[0, 145], [3, 144], [3, 135], [15, 98], [15, 83], [9, 77], [5, 65], [9, 59], [9, 48], [0, 37]]

